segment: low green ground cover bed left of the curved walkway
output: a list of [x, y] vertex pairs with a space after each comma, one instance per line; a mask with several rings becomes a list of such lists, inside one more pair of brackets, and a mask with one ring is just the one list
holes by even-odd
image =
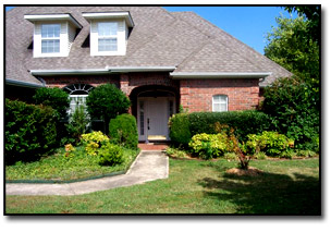
[[64, 156], [64, 148], [49, 157], [34, 162], [16, 162], [5, 167], [5, 180], [70, 181], [109, 174], [126, 170], [135, 159], [137, 151], [124, 149], [125, 161], [108, 167], [98, 163], [98, 156], [87, 155], [84, 147], [77, 147], [72, 157]]

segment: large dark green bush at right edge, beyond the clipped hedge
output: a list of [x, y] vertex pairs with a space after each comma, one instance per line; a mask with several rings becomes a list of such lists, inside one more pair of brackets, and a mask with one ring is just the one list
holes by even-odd
[[281, 78], [265, 90], [262, 111], [272, 118], [277, 131], [295, 141], [296, 148], [319, 149], [317, 93], [297, 77]]

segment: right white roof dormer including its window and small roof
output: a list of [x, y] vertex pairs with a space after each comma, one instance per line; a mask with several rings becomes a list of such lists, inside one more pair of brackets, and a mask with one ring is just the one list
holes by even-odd
[[130, 12], [83, 13], [83, 17], [90, 24], [90, 56], [125, 56], [134, 27]]

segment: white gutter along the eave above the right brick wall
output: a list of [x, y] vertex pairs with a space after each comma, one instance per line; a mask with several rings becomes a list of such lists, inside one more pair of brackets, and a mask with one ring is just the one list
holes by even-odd
[[271, 75], [270, 72], [266, 73], [191, 73], [191, 72], [172, 72], [170, 76], [174, 80], [181, 78], [266, 78]]

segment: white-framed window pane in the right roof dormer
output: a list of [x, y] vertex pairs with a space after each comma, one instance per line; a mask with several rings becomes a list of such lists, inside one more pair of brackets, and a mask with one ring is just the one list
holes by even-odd
[[118, 23], [98, 23], [98, 51], [118, 51]]

